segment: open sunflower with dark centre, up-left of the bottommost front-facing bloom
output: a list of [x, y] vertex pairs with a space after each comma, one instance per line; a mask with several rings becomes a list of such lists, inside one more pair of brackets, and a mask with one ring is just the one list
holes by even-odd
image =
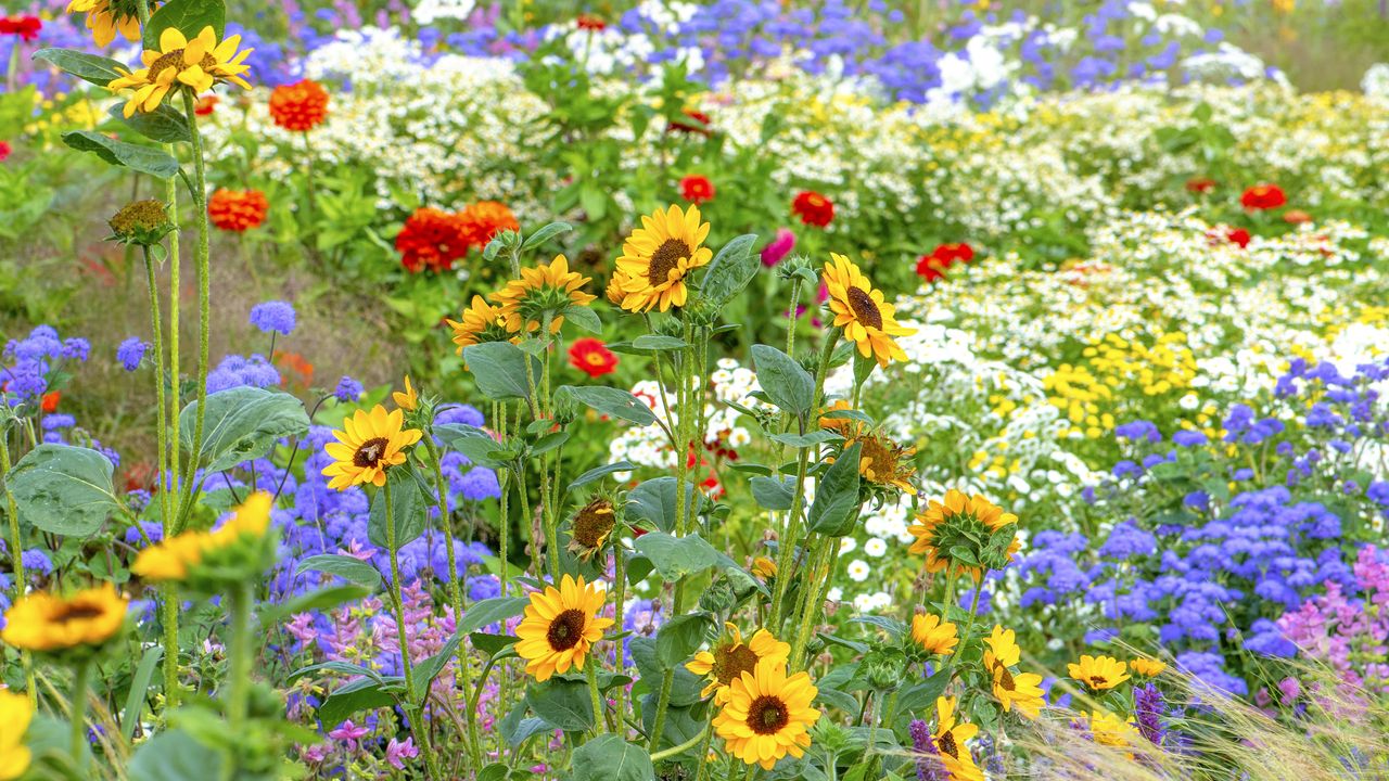
[[613, 618], [600, 618], [599, 610], [607, 592], [564, 575], [560, 588], [546, 586], [531, 593], [525, 618], [517, 627], [517, 653], [526, 660], [525, 671], [536, 681], [549, 681], [569, 667], [583, 670], [583, 659], [593, 643], [603, 639], [603, 630]]

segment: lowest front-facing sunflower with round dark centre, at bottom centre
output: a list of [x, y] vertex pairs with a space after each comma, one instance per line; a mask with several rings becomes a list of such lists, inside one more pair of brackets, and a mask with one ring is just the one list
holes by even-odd
[[788, 753], [800, 759], [810, 748], [808, 730], [820, 720], [810, 705], [817, 693], [808, 673], [788, 678], [785, 661], [758, 661], [729, 684], [714, 731], [728, 753], [771, 770]]

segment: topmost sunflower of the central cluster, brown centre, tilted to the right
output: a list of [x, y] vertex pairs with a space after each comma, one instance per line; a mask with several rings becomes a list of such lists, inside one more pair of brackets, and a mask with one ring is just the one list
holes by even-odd
[[[714, 250], [703, 246], [708, 222], [699, 221], [699, 207], [671, 206], [642, 217], [642, 227], [622, 243], [614, 283], [621, 279], [622, 309], [665, 311], [685, 306], [690, 271], [707, 265]], [[611, 293], [610, 293], [611, 297]]]

